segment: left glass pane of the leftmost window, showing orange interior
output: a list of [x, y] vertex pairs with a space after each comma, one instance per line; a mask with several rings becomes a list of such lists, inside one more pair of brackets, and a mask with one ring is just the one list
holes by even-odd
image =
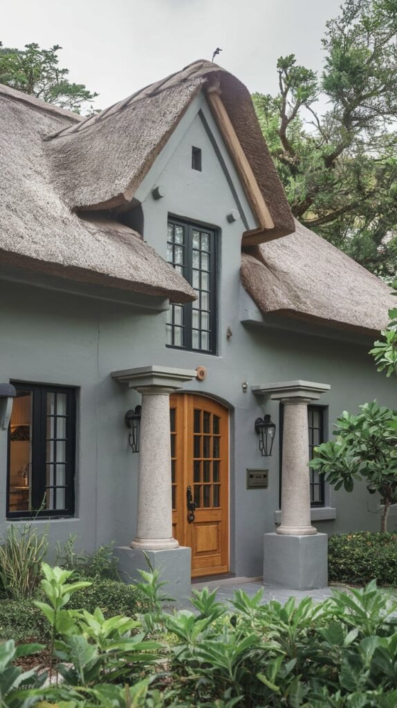
[[10, 476], [8, 509], [31, 508], [33, 392], [17, 391], [10, 422]]

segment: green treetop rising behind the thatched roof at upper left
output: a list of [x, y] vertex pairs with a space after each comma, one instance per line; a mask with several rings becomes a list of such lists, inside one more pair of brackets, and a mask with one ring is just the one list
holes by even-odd
[[18, 50], [4, 47], [0, 42], [0, 84], [60, 108], [81, 113], [98, 93], [91, 93], [84, 84], [69, 81], [69, 70], [59, 67], [57, 52], [60, 49], [62, 47], [59, 45], [41, 49], [33, 42], [25, 45], [23, 50]]

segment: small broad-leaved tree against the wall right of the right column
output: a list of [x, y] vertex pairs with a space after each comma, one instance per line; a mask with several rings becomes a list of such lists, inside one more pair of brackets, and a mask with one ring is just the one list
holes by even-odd
[[343, 486], [353, 491], [355, 481], [364, 479], [369, 493], [380, 495], [381, 531], [385, 532], [389, 508], [397, 503], [397, 411], [376, 401], [359, 407], [358, 416], [343, 412], [336, 424], [336, 440], [316, 447], [309, 464], [335, 490]]

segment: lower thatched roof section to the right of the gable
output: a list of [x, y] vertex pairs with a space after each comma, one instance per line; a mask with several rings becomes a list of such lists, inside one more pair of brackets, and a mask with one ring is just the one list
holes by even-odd
[[309, 229], [243, 253], [241, 279], [263, 314], [373, 334], [396, 307], [390, 288]]

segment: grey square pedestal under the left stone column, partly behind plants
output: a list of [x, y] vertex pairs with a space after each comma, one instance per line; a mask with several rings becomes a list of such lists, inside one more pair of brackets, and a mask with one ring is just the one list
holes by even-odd
[[[179, 546], [159, 551], [145, 550], [145, 553], [153, 568], [160, 570], [160, 580], [167, 583], [161, 588], [161, 593], [173, 600], [189, 598], [192, 549]], [[147, 571], [148, 567], [141, 549], [118, 546], [114, 549], [114, 554], [119, 560], [117, 568], [122, 581], [128, 584], [142, 581], [138, 571]]]

